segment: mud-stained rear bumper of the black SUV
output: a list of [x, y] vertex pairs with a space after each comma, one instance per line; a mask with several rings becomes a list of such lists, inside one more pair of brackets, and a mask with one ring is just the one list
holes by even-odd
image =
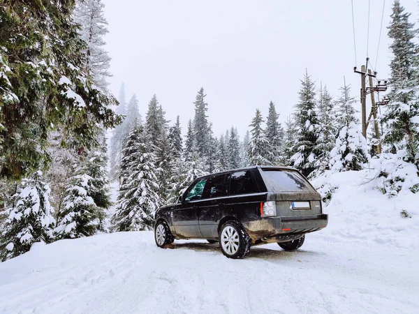
[[253, 244], [292, 241], [303, 234], [323, 229], [328, 215], [266, 217], [242, 223]]

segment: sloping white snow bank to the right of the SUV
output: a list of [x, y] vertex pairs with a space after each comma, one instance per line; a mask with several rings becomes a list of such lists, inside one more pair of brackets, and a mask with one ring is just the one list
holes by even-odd
[[[368, 170], [326, 172], [311, 184], [323, 197], [331, 196], [326, 206], [323, 204], [329, 214], [324, 237], [419, 248], [419, 193], [404, 191], [389, 198], [374, 188]], [[402, 216], [401, 211], [411, 218]]]

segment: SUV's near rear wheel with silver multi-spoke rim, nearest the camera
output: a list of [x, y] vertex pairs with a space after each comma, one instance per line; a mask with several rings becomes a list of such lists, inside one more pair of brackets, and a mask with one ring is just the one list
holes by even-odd
[[229, 220], [220, 228], [219, 244], [226, 257], [237, 259], [249, 254], [251, 241], [241, 223]]

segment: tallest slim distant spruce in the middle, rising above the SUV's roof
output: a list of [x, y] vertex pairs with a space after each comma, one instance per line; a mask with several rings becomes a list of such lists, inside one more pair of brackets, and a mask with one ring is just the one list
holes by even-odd
[[193, 118], [193, 137], [195, 139], [196, 151], [198, 152], [199, 158], [207, 158], [210, 139], [210, 128], [208, 127], [207, 119], [207, 106], [205, 103], [204, 89], [198, 91], [196, 100], [193, 103], [195, 105], [195, 117]]

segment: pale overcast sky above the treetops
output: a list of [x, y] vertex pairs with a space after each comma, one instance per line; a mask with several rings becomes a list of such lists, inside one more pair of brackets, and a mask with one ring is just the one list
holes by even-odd
[[[359, 98], [351, 0], [103, 2], [110, 31], [105, 38], [112, 57], [110, 89], [117, 96], [124, 82], [127, 101], [136, 94], [143, 117], [156, 94], [168, 119], [180, 115], [183, 133], [200, 87], [217, 136], [233, 125], [242, 137], [256, 108], [267, 115], [270, 100], [285, 121], [306, 68], [333, 95], [345, 76]], [[416, 22], [417, 1], [401, 2]], [[360, 68], [367, 56], [368, 1], [353, 3]], [[369, 57], [374, 67], [377, 61], [378, 78], [388, 77], [391, 7], [386, 0], [377, 60], [383, 0], [371, 0]]]

